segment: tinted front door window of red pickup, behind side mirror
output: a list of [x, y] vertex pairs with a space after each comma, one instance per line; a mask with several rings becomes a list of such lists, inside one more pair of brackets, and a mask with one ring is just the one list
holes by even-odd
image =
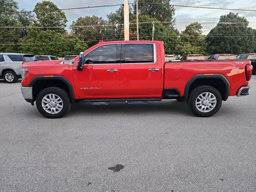
[[116, 63], [117, 44], [98, 47], [85, 56], [86, 64], [112, 64]]

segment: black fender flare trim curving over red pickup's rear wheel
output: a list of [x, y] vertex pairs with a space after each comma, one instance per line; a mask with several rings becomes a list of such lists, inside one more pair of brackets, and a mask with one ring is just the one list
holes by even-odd
[[190, 80], [186, 83], [185, 90], [184, 90], [184, 96], [183, 96], [184, 100], [188, 99], [188, 91], [189, 91], [191, 84], [195, 80], [200, 79], [200, 78], [219, 78], [219, 79], [221, 79], [226, 86], [225, 97], [222, 98], [222, 100], [226, 101], [228, 99], [230, 83], [228, 82], [227, 78], [224, 75], [222, 75], [222, 74], [212, 74], [212, 75], [197, 74], [197, 75], [193, 76], [192, 78], [190, 78]]

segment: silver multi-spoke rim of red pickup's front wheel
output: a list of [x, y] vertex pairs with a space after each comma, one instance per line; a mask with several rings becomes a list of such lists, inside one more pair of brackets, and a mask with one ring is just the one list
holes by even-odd
[[63, 108], [63, 101], [56, 94], [47, 94], [42, 98], [42, 107], [50, 114], [57, 114]]

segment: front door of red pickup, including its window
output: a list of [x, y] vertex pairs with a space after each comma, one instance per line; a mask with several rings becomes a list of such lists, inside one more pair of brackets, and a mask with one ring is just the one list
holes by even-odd
[[121, 44], [102, 45], [84, 56], [84, 69], [73, 68], [76, 91], [80, 98], [120, 96]]

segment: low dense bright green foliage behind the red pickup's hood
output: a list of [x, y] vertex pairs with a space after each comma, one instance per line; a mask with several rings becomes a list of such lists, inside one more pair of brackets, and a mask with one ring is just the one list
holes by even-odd
[[19, 52], [64, 57], [65, 55], [78, 55], [88, 47], [73, 34], [50, 30], [29, 30], [28, 34], [28, 37], [20, 38]]

